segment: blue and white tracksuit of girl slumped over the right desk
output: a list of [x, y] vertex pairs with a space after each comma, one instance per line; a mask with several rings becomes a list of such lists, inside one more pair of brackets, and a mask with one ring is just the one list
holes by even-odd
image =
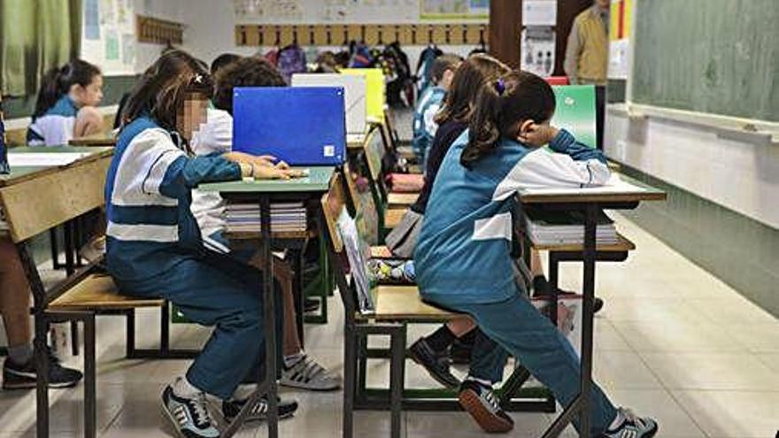
[[[561, 130], [549, 149], [501, 140], [472, 169], [460, 164], [468, 131], [443, 158], [425, 211], [414, 266], [426, 300], [470, 314], [484, 334], [517, 357], [568, 405], [579, 393], [579, 358], [563, 334], [525, 297], [513, 277], [512, 211], [521, 188], [602, 185], [608, 166], [599, 150]], [[502, 349], [479, 350], [502, 373]], [[489, 366], [487, 359], [474, 366]], [[473, 372], [472, 372], [473, 373]], [[598, 436], [617, 411], [603, 391], [592, 389], [592, 434]]]

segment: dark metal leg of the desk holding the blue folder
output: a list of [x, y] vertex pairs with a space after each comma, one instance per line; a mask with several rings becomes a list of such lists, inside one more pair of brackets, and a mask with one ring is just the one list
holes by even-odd
[[[263, 273], [263, 298], [265, 299], [266, 321], [266, 367], [265, 380], [267, 384], [268, 401], [268, 438], [279, 436], [279, 409], [276, 394], [276, 311], [274, 296], [274, 255], [271, 253], [273, 242], [271, 234], [270, 199], [262, 196], [259, 201], [260, 227], [262, 227], [262, 255], [265, 257], [265, 273]], [[258, 376], [258, 384], [262, 376]]]

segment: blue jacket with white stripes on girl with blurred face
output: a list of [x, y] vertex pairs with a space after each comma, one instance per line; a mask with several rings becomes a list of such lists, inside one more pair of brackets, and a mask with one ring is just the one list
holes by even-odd
[[190, 158], [175, 138], [146, 117], [119, 135], [105, 182], [106, 265], [116, 280], [148, 280], [197, 256], [192, 188], [241, 178], [239, 165], [219, 153]]

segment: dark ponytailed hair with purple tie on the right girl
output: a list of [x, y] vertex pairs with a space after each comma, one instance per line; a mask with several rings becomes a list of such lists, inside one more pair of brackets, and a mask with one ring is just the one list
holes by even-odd
[[542, 123], [554, 114], [551, 86], [533, 73], [514, 70], [482, 85], [460, 163], [470, 168], [490, 154], [502, 137], [516, 138], [523, 120]]

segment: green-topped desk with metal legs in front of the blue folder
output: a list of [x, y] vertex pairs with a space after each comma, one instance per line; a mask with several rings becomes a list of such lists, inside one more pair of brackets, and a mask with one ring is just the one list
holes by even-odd
[[[268, 436], [276, 438], [279, 434], [279, 412], [276, 400], [278, 393], [275, 369], [276, 369], [276, 338], [275, 338], [275, 311], [274, 311], [274, 293], [273, 293], [273, 256], [271, 254], [274, 245], [274, 239], [281, 238], [281, 234], [271, 233], [270, 223], [270, 205], [272, 202], [279, 201], [313, 201], [309, 205], [318, 205], [319, 198], [328, 191], [330, 179], [335, 172], [335, 167], [322, 166], [310, 167], [309, 176], [284, 181], [234, 181], [204, 184], [199, 187], [205, 192], [219, 192], [228, 202], [232, 201], [251, 201], [259, 204], [260, 210], [260, 228], [259, 234], [249, 234], [249, 240], [258, 241], [259, 250], [264, 257], [265, 271], [263, 296], [265, 297], [265, 324], [266, 324], [266, 375], [258, 376], [258, 382], [265, 383], [258, 386], [258, 389], [251, 395], [249, 402], [245, 404], [241, 412], [225, 429], [221, 436], [229, 438], [243, 426], [243, 422], [249, 414], [249, 410], [267, 391], [268, 399]], [[320, 214], [317, 211], [315, 217], [319, 219]], [[235, 238], [235, 236], [234, 236]], [[296, 266], [297, 273], [300, 273], [299, 266]], [[303, 299], [299, 300], [302, 304]], [[297, 305], [298, 318], [303, 315], [302, 305]], [[302, 325], [298, 324], [298, 327]]]

